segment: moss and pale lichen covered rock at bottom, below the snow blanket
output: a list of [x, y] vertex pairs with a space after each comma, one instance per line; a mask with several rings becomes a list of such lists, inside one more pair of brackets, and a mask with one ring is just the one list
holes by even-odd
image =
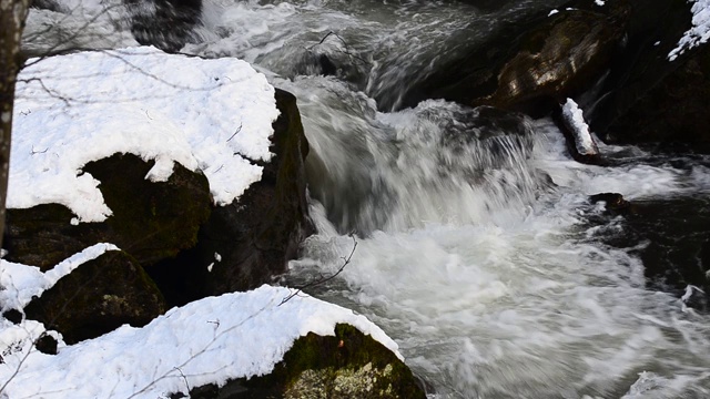
[[339, 324], [335, 337], [297, 339], [266, 376], [190, 391], [194, 399], [426, 398], [409, 368], [371, 336]]

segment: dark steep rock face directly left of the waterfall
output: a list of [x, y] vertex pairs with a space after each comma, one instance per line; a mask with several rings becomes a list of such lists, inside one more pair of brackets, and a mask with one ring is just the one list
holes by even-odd
[[262, 180], [233, 204], [215, 207], [200, 231], [196, 248], [179, 259], [182, 276], [174, 277], [182, 283], [175, 283], [191, 290], [193, 298], [271, 283], [286, 272], [287, 262], [314, 231], [304, 172], [308, 143], [296, 98], [276, 89], [276, 106], [281, 115], [273, 124], [275, 156], [263, 165]]

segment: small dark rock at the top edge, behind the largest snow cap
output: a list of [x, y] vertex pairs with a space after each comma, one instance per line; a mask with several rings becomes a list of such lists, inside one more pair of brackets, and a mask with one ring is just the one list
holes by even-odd
[[200, 22], [202, 0], [124, 0], [131, 32], [144, 45], [175, 52], [191, 39]]

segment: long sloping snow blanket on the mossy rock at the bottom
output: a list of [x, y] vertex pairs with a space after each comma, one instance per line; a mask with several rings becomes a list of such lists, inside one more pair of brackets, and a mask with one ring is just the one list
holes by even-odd
[[352, 310], [307, 295], [280, 306], [291, 293], [262, 286], [204, 298], [173, 308], [143, 328], [126, 325], [74, 346], [60, 345], [54, 356], [37, 350], [28, 355], [27, 332], [7, 326], [0, 331], [0, 349], [10, 355], [0, 365], [0, 381], [12, 377], [23, 362], [2, 393], [44, 399], [155, 399], [186, 393], [206, 383], [268, 374], [295, 339], [308, 332], [333, 336], [337, 323], [371, 335], [402, 358], [382, 329]]

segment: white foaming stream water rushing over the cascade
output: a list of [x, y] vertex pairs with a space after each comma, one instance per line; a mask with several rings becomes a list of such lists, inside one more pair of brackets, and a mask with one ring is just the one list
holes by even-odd
[[587, 166], [548, 120], [393, 111], [462, 43], [560, 2], [488, 3], [204, 3], [182, 51], [245, 59], [298, 99], [318, 233], [286, 283], [347, 262], [311, 294], [383, 327], [435, 398], [710, 397], [710, 316], [649, 288], [649, 243], [608, 244], [623, 218], [588, 200], [702, 201], [710, 160], [601, 145], [615, 166]]

